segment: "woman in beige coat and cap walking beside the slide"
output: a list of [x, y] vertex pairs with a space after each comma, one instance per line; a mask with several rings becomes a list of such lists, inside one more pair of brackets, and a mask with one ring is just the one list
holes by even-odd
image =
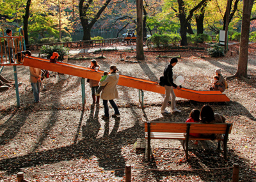
[[102, 115], [102, 118], [104, 119], [109, 118], [108, 101], [113, 107], [113, 109], [115, 110], [115, 114], [113, 114], [112, 117], [115, 118], [116, 116], [120, 116], [120, 112], [114, 101], [115, 98], [118, 98], [118, 91], [117, 91], [116, 85], [119, 80], [119, 74], [116, 73], [118, 72], [116, 65], [112, 64], [109, 67], [109, 72], [110, 72], [110, 75], [108, 75], [104, 81], [99, 83], [100, 86], [105, 86], [100, 95], [100, 98], [102, 98], [103, 100], [104, 115]]

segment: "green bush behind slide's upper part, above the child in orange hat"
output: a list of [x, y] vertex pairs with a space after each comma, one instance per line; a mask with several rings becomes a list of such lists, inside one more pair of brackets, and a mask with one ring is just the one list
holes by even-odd
[[40, 54], [46, 54], [47, 59], [50, 59], [53, 52], [58, 52], [60, 57], [58, 60], [63, 60], [63, 56], [68, 55], [68, 47], [64, 47], [63, 45], [43, 45], [40, 49]]

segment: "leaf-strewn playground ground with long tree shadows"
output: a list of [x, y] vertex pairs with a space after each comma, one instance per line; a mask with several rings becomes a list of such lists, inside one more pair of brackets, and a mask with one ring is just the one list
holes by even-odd
[[[156, 56], [181, 56], [173, 68], [174, 77], [184, 77], [183, 87], [205, 90], [216, 68], [222, 69], [224, 77], [236, 72], [238, 49], [238, 44], [232, 45], [229, 50], [233, 55], [228, 52], [220, 58], [195, 50], [145, 52], [145, 61], [139, 63], [120, 61], [120, 51], [111, 51], [74, 55], [76, 59], [69, 63], [88, 66], [90, 60], [77, 57], [103, 54], [106, 59], [97, 60], [101, 70], [116, 64], [120, 74], [157, 81], [170, 58], [156, 59]], [[125, 181], [127, 164], [132, 167], [132, 181], [232, 181], [229, 167], [234, 163], [240, 166], [239, 180], [256, 181], [255, 50], [256, 44], [251, 44], [250, 79], [228, 80], [225, 94], [230, 102], [207, 103], [214, 112], [225, 116], [228, 123], [233, 123], [228, 160], [224, 160], [216, 148], [195, 149], [189, 152], [190, 158], [186, 160], [182, 147], [173, 148], [168, 140], [157, 142], [151, 163], [145, 161], [145, 151], [134, 149], [136, 140], [145, 137], [145, 121], [186, 121], [192, 109], [200, 109], [205, 103], [177, 98], [177, 108], [182, 112], [162, 115], [164, 95], [145, 91], [145, 107], [141, 109], [138, 90], [118, 86], [116, 104], [121, 116], [106, 121], [101, 118], [104, 114], [102, 103], [99, 106], [91, 104], [88, 84], [86, 105], [82, 110], [81, 79], [78, 77], [45, 79], [47, 90], [40, 94], [40, 103], [33, 103], [28, 67], [17, 66], [18, 79], [22, 83], [19, 86], [20, 107], [16, 107], [15, 87], [0, 92], [0, 181], [15, 181], [20, 171], [30, 181]], [[136, 56], [136, 52], [122, 52], [122, 57], [127, 57], [125, 60], [136, 61], [132, 56]], [[12, 66], [5, 66], [1, 75], [14, 80]], [[109, 111], [113, 113], [113, 109]], [[170, 148], [163, 147], [166, 145]]]

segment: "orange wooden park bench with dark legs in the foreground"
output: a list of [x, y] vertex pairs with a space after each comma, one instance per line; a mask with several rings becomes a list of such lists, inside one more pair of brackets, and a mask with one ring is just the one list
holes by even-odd
[[223, 142], [224, 158], [227, 159], [227, 141], [228, 134], [231, 133], [232, 124], [229, 123], [172, 123], [172, 122], [159, 122], [148, 121], [145, 123], [145, 138], [147, 139], [147, 158], [150, 160], [150, 140], [151, 139], [169, 139], [169, 140], [182, 140], [182, 146], [188, 159], [188, 142], [189, 140], [211, 140], [210, 137], [193, 137], [189, 133], [200, 134], [223, 134], [223, 137], [218, 140], [218, 149], [220, 149], [221, 141]]

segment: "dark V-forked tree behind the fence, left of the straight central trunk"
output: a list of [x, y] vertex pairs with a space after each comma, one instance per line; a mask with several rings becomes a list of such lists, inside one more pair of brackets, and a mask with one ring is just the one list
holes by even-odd
[[[79, 1], [79, 17], [83, 27], [83, 40], [91, 40], [91, 29], [93, 25], [100, 18], [100, 15], [107, 8], [111, 0], [106, 0], [105, 3], [95, 4], [93, 0], [80, 0]], [[95, 8], [98, 6], [99, 8]], [[92, 10], [94, 8], [94, 10]], [[95, 13], [94, 13], [95, 12]]]

